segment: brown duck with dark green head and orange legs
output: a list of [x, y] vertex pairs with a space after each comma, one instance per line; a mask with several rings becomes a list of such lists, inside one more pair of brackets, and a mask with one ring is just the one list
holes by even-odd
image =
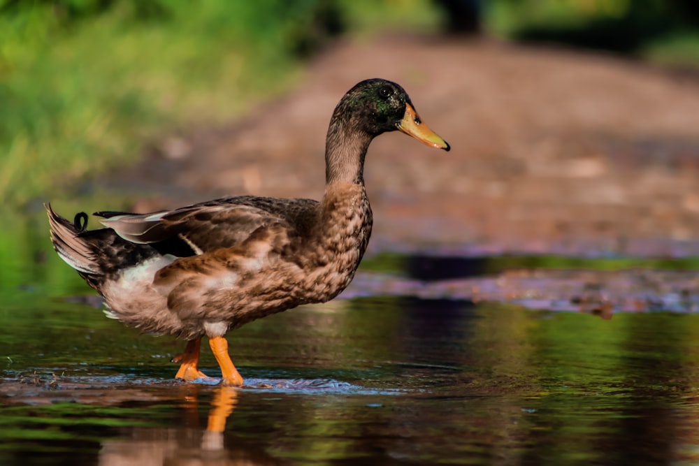
[[45, 204], [52, 245], [102, 296], [106, 316], [154, 335], [187, 340], [175, 378], [199, 369], [208, 337], [220, 384], [243, 386], [226, 333], [245, 323], [338, 296], [359, 266], [373, 217], [363, 168], [371, 141], [401, 131], [430, 147], [449, 144], [422, 122], [405, 89], [363, 80], [340, 99], [326, 136], [322, 199], [231, 196], [138, 214], [94, 212], [73, 221]]

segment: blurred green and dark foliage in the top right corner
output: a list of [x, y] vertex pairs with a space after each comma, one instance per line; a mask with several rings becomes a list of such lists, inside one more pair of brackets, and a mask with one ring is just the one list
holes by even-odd
[[[488, 29], [524, 41], [646, 54], [696, 57], [699, 2], [693, 0], [490, 0]], [[678, 38], [682, 37], [679, 56]], [[668, 38], [673, 38], [672, 43]], [[692, 39], [692, 40], [689, 40]], [[689, 50], [688, 44], [693, 43]], [[666, 60], [667, 61], [667, 60]]]

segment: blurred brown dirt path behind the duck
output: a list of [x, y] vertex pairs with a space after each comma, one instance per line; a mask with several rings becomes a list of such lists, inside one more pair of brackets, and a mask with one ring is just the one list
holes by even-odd
[[392, 36], [340, 43], [289, 96], [240, 122], [161, 144], [113, 175], [160, 197], [319, 198], [324, 138], [364, 78], [405, 87], [452, 145], [399, 133], [370, 147], [371, 250], [699, 255], [699, 78], [596, 54]]

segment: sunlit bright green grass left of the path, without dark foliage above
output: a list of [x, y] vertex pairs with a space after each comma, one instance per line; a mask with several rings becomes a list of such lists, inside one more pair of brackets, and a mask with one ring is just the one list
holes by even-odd
[[246, 4], [203, 1], [152, 23], [115, 8], [71, 28], [44, 6], [1, 17], [0, 197], [65, 189], [136, 160], [164, 131], [230, 118], [288, 87], [298, 68], [283, 31], [256, 41]]

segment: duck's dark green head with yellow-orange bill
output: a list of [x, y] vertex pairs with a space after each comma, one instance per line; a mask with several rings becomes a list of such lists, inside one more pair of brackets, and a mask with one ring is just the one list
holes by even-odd
[[447, 141], [422, 122], [405, 89], [389, 80], [375, 78], [357, 83], [345, 94], [335, 113], [371, 136], [398, 129], [431, 147], [450, 149]]

